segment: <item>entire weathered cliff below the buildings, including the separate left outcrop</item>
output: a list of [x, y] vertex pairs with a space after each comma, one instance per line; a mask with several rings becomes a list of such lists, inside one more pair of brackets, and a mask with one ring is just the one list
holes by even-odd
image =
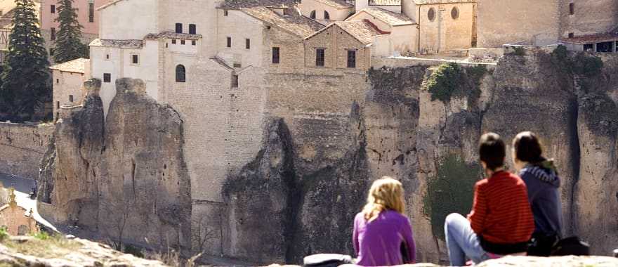
[[565, 235], [581, 235], [595, 254], [618, 244], [618, 217], [604, 212], [618, 208], [617, 56], [510, 48], [497, 65], [394, 61], [362, 75], [287, 79], [296, 91], [273, 86], [263, 133], [246, 133], [263, 136], [261, 150], [225, 177], [223, 214], [192, 229], [181, 115], [121, 79], [105, 122], [96, 93], [66, 109], [44, 159], [39, 197], [51, 205], [41, 210], [131, 242], [201, 250], [212, 234], [224, 256], [298, 263], [353, 254], [353, 216], [388, 175], [405, 185], [418, 261], [438, 263], [445, 216], [470, 210], [481, 178], [479, 136], [510, 141], [530, 130], [558, 163]]

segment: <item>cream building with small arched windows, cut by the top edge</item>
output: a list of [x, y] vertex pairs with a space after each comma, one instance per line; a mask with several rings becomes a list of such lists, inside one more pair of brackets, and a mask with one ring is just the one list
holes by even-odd
[[327, 25], [331, 21], [346, 20], [354, 14], [353, 2], [350, 0], [303, 0], [300, 5], [301, 14]]

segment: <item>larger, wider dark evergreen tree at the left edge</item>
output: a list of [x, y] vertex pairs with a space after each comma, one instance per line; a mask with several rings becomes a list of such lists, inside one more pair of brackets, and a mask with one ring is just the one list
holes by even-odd
[[13, 30], [0, 75], [1, 106], [12, 119], [29, 119], [34, 109], [51, 100], [47, 51], [32, 0], [15, 0]]

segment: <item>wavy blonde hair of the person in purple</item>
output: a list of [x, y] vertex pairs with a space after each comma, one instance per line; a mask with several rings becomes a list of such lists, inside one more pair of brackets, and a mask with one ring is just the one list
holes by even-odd
[[400, 181], [383, 176], [374, 181], [372, 188], [369, 189], [367, 204], [364, 205], [362, 213], [365, 220], [373, 221], [382, 211], [388, 209], [400, 214], [405, 213], [403, 186]]

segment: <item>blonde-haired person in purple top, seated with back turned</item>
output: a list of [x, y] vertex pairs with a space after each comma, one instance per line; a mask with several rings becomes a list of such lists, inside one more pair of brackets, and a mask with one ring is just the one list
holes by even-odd
[[414, 263], [412, 226], [404, 215], [401, 183], [390, 177], [374, 181], [367, 204], [354, 219], [353, 243], [360, 266]]

